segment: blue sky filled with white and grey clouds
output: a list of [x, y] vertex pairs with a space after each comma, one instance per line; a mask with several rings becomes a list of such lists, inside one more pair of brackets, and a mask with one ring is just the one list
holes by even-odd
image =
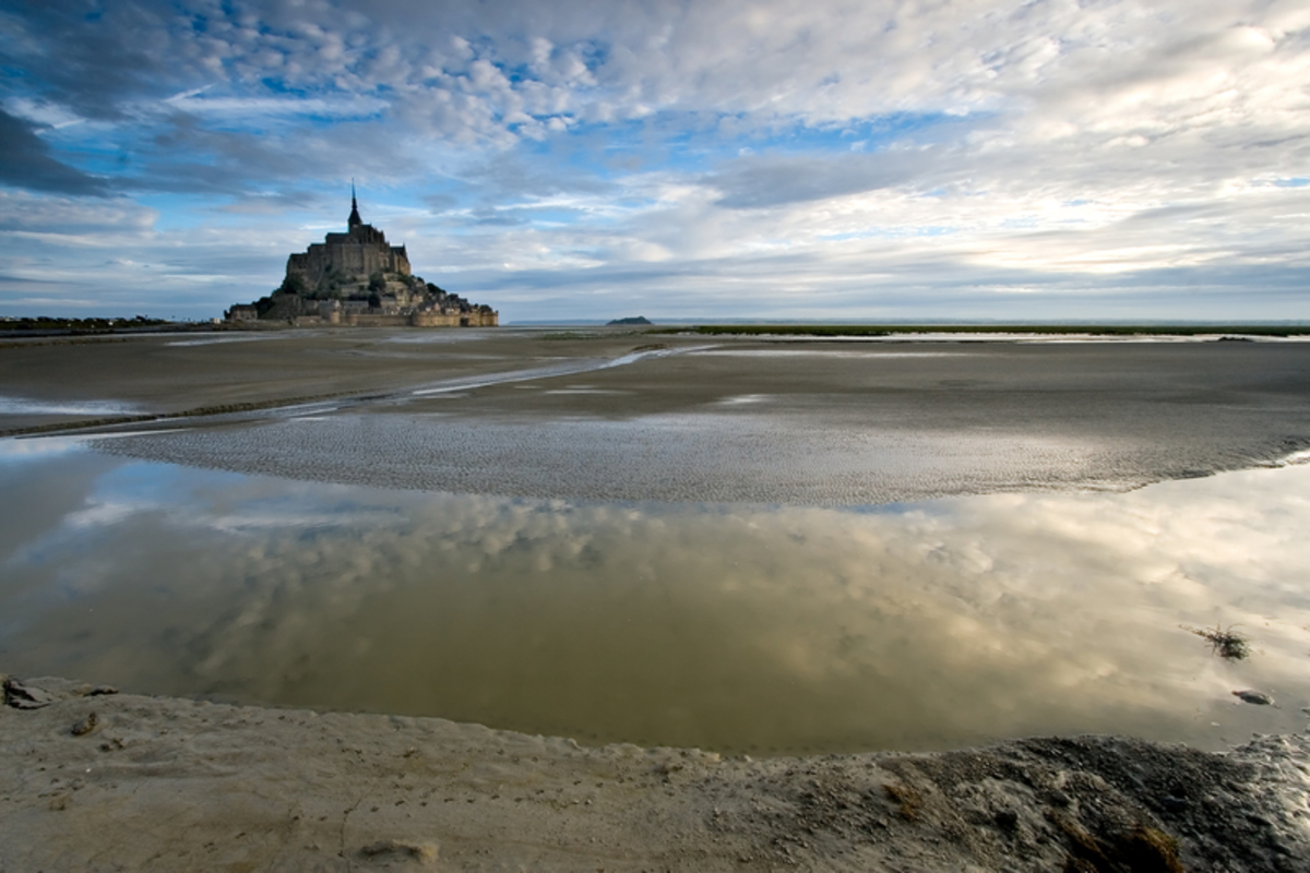
[[0, 315], [1310, 321], [1305, 0], [0, 0]]

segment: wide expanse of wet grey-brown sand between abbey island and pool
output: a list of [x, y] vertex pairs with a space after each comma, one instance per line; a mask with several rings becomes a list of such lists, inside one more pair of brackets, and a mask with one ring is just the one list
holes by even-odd
[[[1298, 342], [279, 331], [0, 356], [0, 397], [191, 414], [107, 450], [461, 493], [861, 505], [1125, 490], [1310, 446]], [[9, 432], [93, 420], [0, 406]]]

